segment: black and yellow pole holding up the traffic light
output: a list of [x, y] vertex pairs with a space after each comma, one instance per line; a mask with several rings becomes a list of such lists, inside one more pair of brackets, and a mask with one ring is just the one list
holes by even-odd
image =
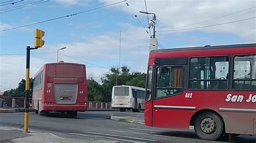
[[25, 96], [26, 96], [26, 104], [25, 104], [25, 115], [24, 115], [24, 132], [29, 133], [29, 68], [30, 68], [30, 50], [37, 48], [30, 48], [30, 46], [26, 46], [26, 86], [25, 86]]

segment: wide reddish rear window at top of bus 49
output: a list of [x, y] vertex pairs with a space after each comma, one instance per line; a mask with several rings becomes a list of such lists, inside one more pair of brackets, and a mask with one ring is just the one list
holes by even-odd
[[84, 67], [69, 64], [48, 65], [48, 76], [84, 77]]

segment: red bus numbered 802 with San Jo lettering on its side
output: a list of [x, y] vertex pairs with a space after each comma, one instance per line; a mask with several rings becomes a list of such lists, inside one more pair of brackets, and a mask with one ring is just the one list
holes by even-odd
[[146, 126], [256, 135], [256, 44], [151, 51], [146, 90]]

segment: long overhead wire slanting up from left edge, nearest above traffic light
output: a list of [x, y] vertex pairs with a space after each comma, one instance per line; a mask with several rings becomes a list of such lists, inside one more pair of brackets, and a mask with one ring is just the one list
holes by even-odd
[[37, 23], [32, 23], [32, 24], [27, 24], [27, 25], [23, 25], [23, 26], [13, 27], [13, 28], [1, 30], [0, 32], [9, 31], [9, 30], [14, 30], [14, 29], [17, 29], [17, 28], [26, 27], [26, 26], [31, 26], [31, 25], [36, 25], [36, 24], [39, 24], [39, 23], [50, 22], [50, 21], [53, 21], [53, 20], [57, 20], [57, 19], [61, 19], [61, 18], [66, 18], [66, 17], [70, 17], [70, 16], [76, 16], [76, 15], [79, 15], [80, 13], [84, 13], [84, 12], [89, 12], [89, 11], [93, 11], [93, 10], [105, 8], [105, 7], [112, 6], [112, 5], [116, 5], [116, 4], [119, 4], [119, 3], [126, 2], [126, 1], [127, 1], [127, 0], [120, 1], [120, 2], [116, 2], [116, 3], [112, 3], [112, 4], [107, 4], [107, 5], [104, 5], [104, 6], [99, 6], [98, 8], [94, 8], [94, 9], [90, 9], [90, 10], [85, 10], [85, 11], [73, 13], [73, 14], [71, 14], [71, 15], [62, 16], [62, 17], [52, 18], [52, 19], [44, 20], [44, 21], [37, 22]]

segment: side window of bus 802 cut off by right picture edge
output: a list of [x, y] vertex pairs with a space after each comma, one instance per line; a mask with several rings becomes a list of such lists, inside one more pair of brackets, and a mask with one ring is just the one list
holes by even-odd
[[233, 89], [256, 90], [256, 55], [235, 56]]

